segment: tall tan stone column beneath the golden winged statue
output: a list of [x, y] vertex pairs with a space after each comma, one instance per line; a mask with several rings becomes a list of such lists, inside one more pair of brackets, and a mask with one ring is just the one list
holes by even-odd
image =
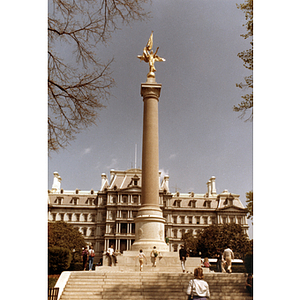
[[162, 210], [159, 207], [159, 147], [158, 147], [158, 101], [161, 84], [155, 78], [147, 78], [141, 85], [144, 101], [143, 153], [142, 153], [142, 199], [135, 219], [135, 242], [132, 250], [169, 251], [165, 243]]

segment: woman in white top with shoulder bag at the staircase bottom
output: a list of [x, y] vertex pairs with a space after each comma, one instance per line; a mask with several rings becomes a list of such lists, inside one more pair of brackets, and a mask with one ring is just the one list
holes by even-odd
[[204, 281], [203, 269], [197, 267], [194, 270], [194, 279], [189, 281], [186, 294], [189, 296], [189, 300], [207, 300], [210, 297], [209, 286]]

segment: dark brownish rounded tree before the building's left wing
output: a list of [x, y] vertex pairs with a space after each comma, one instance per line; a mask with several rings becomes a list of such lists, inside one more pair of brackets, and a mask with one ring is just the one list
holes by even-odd
[[73, 225], [64, 221], [48, 223], [48, 247], [58, 247], [68, 249], [73, 253], [75, 249], [74, 260], [79, 261], [81, 258], [82, 247], [86, 243], [83, 235]]

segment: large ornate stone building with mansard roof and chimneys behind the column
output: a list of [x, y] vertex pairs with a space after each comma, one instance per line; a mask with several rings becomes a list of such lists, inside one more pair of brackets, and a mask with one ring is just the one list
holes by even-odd
[[[141, 169], [111, 170], [110, 180], [101, 175], [99, 191], [67, 191], [55, 172], [48, 191], [48, 220], [77, 227], [87, 244], [94, 246], [97, 257], [111, 244], [120, 252], [130, 250], [135, 240], [134, 218], [141, 206], [141, 176]], [[165, 176], [159, 182], [159, 204], [172, 252], [178, 251], [184, 233], [196, 234], [211, 224], [237, 223], [248, 234], [247, 212], [239, 195], [227, 190], [217, 194], [215, 177], [207, 182], [206, 193], [196, 194], [171, 193], [169, 176]]]

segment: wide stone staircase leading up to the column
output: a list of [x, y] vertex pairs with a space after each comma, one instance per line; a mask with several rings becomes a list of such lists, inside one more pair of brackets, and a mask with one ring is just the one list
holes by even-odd
[[[161, 272], [71, 272], [59, 300], [185, 300], [192, 274]], [[244, 274], [205, 274], [210, 300], [250, 300]]]

